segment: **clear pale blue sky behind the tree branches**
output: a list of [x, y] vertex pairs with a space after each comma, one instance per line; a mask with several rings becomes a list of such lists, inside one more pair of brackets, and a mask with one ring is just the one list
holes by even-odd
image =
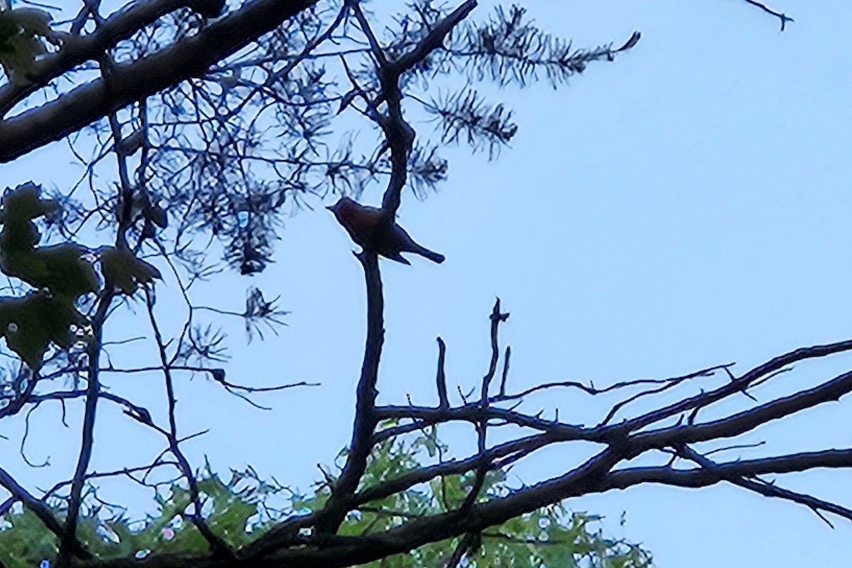
[[[439, 335], [448, 346], [451, 393], [456, 384], [477, 384], [487, 367], [486, 316], [495, 296], [511, 313], [503, 338], [513, 349], [514, 390], [568, 379], [602, 385], [675, 376], [732, 361], [742, 371], [795, 347], [852, 335], [849, 3], [777, 0], [774, 8], [796, 18], [784, 33], [778, 20], [733, 0], [525, 5], [539, 25], [578, 47], [621, 43], [634, 30], [642, 41], [612, 64], [590, 66], [567, 88], [485, 89], [515, 109], [521, 129], [512, 147], [491, 163], [464, 147], [446, 152], [451, 168], [440, 191], [425, 201], [404, 198], [400, 222], [447, 260], [440, 267], [416, 258], [412, 267], [383, 265], [379, 401], [402, 403], [411, 394], [415, 402], [435, 402]], [[486, 12], [482, 6], [475, 15]], [[54, 145], [4, 165], [4, 183], [67, 183], [71, 169], [44, 168], [57, 156], [66, 160], [63, 152]], [[365, 201], [376, 204], [380, 191], [367, 192]], [[322, 386], [270, 395], [260, 402], [274, 410], [262, 412], [204, 379], [181, 382], [180, 427], [210, 428], [187, 445], [195, 463], [205, 454], [220, 469], [250, 463], [305, 487], [319, 476], [315, 464], [331, 462], [349, 438], [364, 290], [352, 245], [325, 210], [294, 216], [282, 236], [267, 273], [251, 282], [222, 275], [196, 301], [239, 311], [247, 284], [281, 295], [292, 311], [289, 327], [265, 342], [245, 346], [241, 322], [211, 320], [231, 334], [229, 377], [257, 386]], [[180, 313], [176, 291], [168, 279], [159, 291], [164, 317]], [[128, 321], [117, 321], [115, 337], [145, 333]], [[181, 322], [171, 320], [171, 330]], [[140, 346], [116, 352], [123, 366], [150, 360], [153, 345]], [[803, 364], [755, 394], [766, 401], [792, 393], [849, 365], [852, 356]], [[162, 404], [154, 376], [111, 384], [149, 408]], [[610, 402], [556, 392], [527, 408], [558, 406], [561, 417], [582, 422], [603, 416]], [[635, 411], [647, 409], [637, 404]], [[95, 468], [144, 463], [162, 449], [163, 440], [127, 424], [118, 410], [102, 410]], [[4, 467], [30, 485], [70, 476], [78, 416], [69, 407], [70, 430], [59, 426], [58, 407], [32, 416], [27, 455], [49, 456], [52, 464], [41, 469], [20, 462], [23, 421], [4, 422]], [[746, 440], [767, 445], [728, 456], [849, 447], [849, 422], [849, 401], [842, 400], [763, 427]], [[448, 438], [459, 453], [475, 445], [470, 432]], [[560, 473], [588, 451], [543, 452], [517, 468], [515, 479]], [[779, 482], [852, 504], [848, 472]], [[128, 490], [105, 491], [115, 501]], [[806, 508], [729, 485], [637, 487], [568, 505], [606, 514], [609, 531], [643, 542], [664, 567], [843, 565], [852, 554], [848, 522], [836, 519], [832, 531]]]

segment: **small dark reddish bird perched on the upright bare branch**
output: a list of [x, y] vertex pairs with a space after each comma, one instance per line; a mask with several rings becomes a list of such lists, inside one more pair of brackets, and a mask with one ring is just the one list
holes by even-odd
[[430, 261], [440, 264], [444, 255], [414, 242], [414, 239], [395, 221], [384, 221], [382, 209], [361, 205], [354, 199], [340, 198], [336, 204], [326, 207], [337, 222], [343, 225], [346, 232], [364, 250], [371, 250], [392, 261], [411, 265], [400, 253], [410, 252], [421, 255]]

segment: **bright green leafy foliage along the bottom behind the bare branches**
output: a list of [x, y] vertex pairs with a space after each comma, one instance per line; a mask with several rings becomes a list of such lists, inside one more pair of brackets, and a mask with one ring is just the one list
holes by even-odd
[[[424, 462], [443, 456], [447, 448], [437, 438], [436, 429], [420, 433], [409, 442], [388, 440], [378, 445], [368, 462], [364, 482], [394, 479]], [[341, 452], [341, 456], [344, 452]], [[469, 490], [470, 475], [435, 479], [429, 484], [388, 498], [365, 503], [350, 513], [341, 526], [341, 535], [369, 535], [384, 531], [406, 516], [446, 512], [463, 502]], [[225, 482], [210, 471], [199, 477], [199, 490], [205, 496], [202, 514], [210, 529], [231, 545], [253, 541], [273, 523], [292, 514], [312, 513], [325, 505], [328, 481], [314, 485], [309, 493], [291, 491], [273, 481], [262, 480], [252, 468], [231, 471]], [[505, 495], [512, 491], [503, 474], [489, 474], [483, 491]], [[90, 495], [94, 495], [94, 491]], [[143, 521], [131, 521], [124, 513], [105, 516], [104, 510], [90, 504], [79, 521], [80, 541], [101, 558], [144, 558], [157, 552], [203, 552], [208, 543], [191, 523], [184, 521], [191, 509], [189, 491], [171, 484], [156, 496], [158, 513]], [[55, 500], [56, 513], [64, 513], [62, 500]], [[571, 513], [561, 505], [551, 505], [512, 519], [481, 535], [479, 550], [468, 566], [601, 566], [606, 568], [646, 568], [651, 555], [642, 547], [603, 536], [601, 518], [587, 513]], [[26, 509], [9, 512], [0, 522], [0, 561], [9, 568], [30, 568], [56, 554], [53, 533]], [[368, 566], [393, 565], [400, 568], [432, 568], [442, 565], [456, 542], [434, 542], [412, 554], [400, 554]]]

